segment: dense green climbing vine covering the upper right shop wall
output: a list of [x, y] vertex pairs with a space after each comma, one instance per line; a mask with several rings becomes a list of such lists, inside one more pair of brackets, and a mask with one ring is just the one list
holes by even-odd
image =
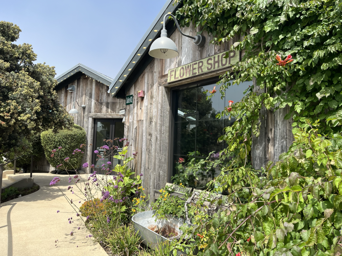
[[[293, 127], [320, 119], [318, 132], [333, 132], [342, 114], [341, 8], [341, 0], [183, 1], [176, 12], [182, 26], [193, 22], [211, 33], [216, 44], [241, 39], [231, 49], [245, 55], [222, 76], [222, 95], [231, 80], [239, 84], [255, 77], [261, 88], [255, 93], [251, 87], [244, 99], [221, 113], [237, 117], [220, 138], [227, 141], [225, 153], [234, 156], [237, 166], [249, 155], [252, 133], [260, 134], [263, 106], [276, 110], [288, 105], [285, 118], [293, 117]], [[294, 61], [276, 65], [276, 55], [283, 60], [292, 55]]]

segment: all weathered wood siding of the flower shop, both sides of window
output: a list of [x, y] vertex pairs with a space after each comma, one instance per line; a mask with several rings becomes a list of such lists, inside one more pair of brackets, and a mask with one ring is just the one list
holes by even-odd
[[[189, 35], [195, 35], [197, 32], [193, 26], [182, 30]], [[169, 69], [226, 52], [233, 43], [240, 41], [237, 37], [221, 45], [213, 45], [209, 43], [212, 36], [207, 32], [203, 32], [203, 35], [206, 37], [206, 44], [199, 48], [192, 40], [176, 30], [170, 38], [176, 43], [179, 55], [172, 59], [154, 59], [126, 94], [133, 95], [133, 104], [126, 106], [125, 137], [131, 143], [129, 155], [138, 152], [134, 160], [134, 168], [137, 174], [143, 173], [142, 185], [150, 198], [154, 198], [154, 189], [160, 189], [168, 182], [169, 128], [172, 125], [169, 87], [203, 79], [191, 77], [172, 85], [165, 82], [167, 80], [165, 75]], [[243, 55], [244, 51], [241, 52], [241, 57]], [[215, 72], [203, 77], [218, 75], [219, 72]], [[256, 85], [255, 81], [253, 82]], [[137, 97], [139, 90], [145, 90], [144, 98]], [[255, 91], [257, 90], [260, 91], [260, 88], [255, 87]], [[286, 111], [288, 109], [281, 109], [275, 113], [266, 109], [260, 111], [261, 134], [259, 138], [253, 138], [252, 149], [255, 168], [260, 169], [269, 160], [278, 160], [279, 154], [289, 148], [292, 133], [291, 122], [284, 120]]]

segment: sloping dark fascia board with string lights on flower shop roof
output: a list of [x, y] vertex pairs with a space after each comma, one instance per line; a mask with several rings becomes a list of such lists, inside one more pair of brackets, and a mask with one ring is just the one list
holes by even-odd
[[[162, 29], [162, 26], [163, 26], [161, 22], [163, 21], [164, 15], [168, 12], [171, 12], [171, 13], [174, 12], [181, 5], [180, 1], [174, 6], [173, 6], [173, 3], [174, 3], [174, 0], [167, 0], [167, 2], [164, 4], [161, 11], [158, 13], [157, 17], [154, 19], [151, 26], [148, 28], [148, 30], [144, 34], [143, 38], [140, 40], [140, 42], [137, 44], [137, 46], [133, 50], [130, 57], [122, 66], [121, 70], [115, 77], [114, 81], [110, 84], [108, 93], [112, 93], [113, 97], [120, 90], [120, 88], [125, 84], [128, 77], [130, 76], [130, 74], [133, 73], [135, 67], [140, 62], [140, 60], [142, 60], [143, 57], [146, 54], [148, 54], [149, 46], [153, 42], [153, 40], [159, 37], [160, 30]], [[168, 23], [169, 21], [170, 19], [167, 19], [166, 23]], [[172, 20], [172, 22], [174, 21]], [[158, 32], [154, 32], [154, 30], [158, 30]], [[152, 42], [149, 41], [150, 39], [152, 39]], [[143, 49], [143, 47], [146, 47], [146, 49]], [[137, 56], [138, 53], [141, 54], [141, 56]], [[132, 63], [133, 61], [135, 61], [136, 63]], [[128, 69], [131, 69], [131, 71], [129, 71]], [[119, 80], [121, 80], [122, 82], [120, 82]]]

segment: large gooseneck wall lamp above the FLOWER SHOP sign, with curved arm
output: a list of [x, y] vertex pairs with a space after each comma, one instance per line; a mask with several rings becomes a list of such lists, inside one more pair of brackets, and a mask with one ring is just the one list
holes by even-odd
[[167, 16], [171, 16], [174, 19], [179, 32], [185, 37], [192, 38], [195, 45], [201, 47], [205, 44], [206, 38], [203, 35], [192, 37], [191, 35], [184, 34], [181, 31], [176, 18], [172, 14], [168, 13], [164, 16], [163, 29], [161, 30], [160, 38], [156, 39], [152, 43], [148, 52], [149, 55], [158, 59], [171, 59], [178, 56], [177, 46], [170, 38], [168, 38], [168, 31], [165, 28], [165, 20]]

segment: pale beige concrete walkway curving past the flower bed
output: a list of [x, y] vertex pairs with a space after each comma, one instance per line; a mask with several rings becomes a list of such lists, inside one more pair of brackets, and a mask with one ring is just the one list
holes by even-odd
[[[29, 177], [29, 173], [15, 176], [19, 175]], [[85, 177], [85, 174], [81, 176]], [[86, 238], [90, 232], [80, 217], [73, 213], [61, 191], [55, 185], [50, 186], [51, 180], [59, 177], [60, 188], [65, 193], [69, 192], [68, 197], [77, 200], [78, 205], [80, 199], [67, 190], [69, 176], [33, 173], [32, 177], [40, 186], [37, 192], [1, 204], [0, 256], [107, 256], [99, 244], [94, 245], [91, 239]], [[74, 223], [68, 223], [70, 217]], [[70, 236], [71, 231], [73, 236]]]

